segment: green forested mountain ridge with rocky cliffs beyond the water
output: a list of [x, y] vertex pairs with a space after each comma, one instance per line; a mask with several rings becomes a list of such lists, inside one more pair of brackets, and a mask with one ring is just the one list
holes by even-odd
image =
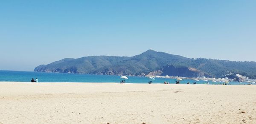
[[190, 59], [148, 50], [132, 57], [87, 56], [78, 59], [66, 58], [48, 65], [39, 65], [34, 71], [128, 76], [206, 76], [215, 78], [224, 77], [229, 73], [239, 73], [251, 79], [256, 79], [256, 62]]

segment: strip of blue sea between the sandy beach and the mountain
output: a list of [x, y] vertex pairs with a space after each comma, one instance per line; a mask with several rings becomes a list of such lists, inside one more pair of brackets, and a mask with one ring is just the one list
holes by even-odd
[[[152, 83], [163, 83], [169, 82], [170, 84], [175, 84], [177, 79], [169, 78], [155, 78], [155, 80], [150, 80], [148, 77], [139, 76], [127, 76], [125, 83], [140, 83], [147, 84], [149, 81]], [[77, 73], [45, 73], [45, 72], [33, 72], [33, 71], [10, 71], [10, 70], [0, 70], [0, 82], [30, 82], [31, 79], [38, 79], [40, 82], [116, 82], [120, 83], [122, 80], [120, 76], [116, 75], [93, 75], [93, 74], [77, 74]], [[196, 82], [192, 79], [183, 79], [180, 84], [187, 84], [187, 82]], [[218, 85], [223, 82], [212, 82], [209, 81], [209, 85]], [[207, 84], [206, 81], [199, 80], [196, 84]], [[247, 85], [247, 83], [230, 82], [229, 85]]]

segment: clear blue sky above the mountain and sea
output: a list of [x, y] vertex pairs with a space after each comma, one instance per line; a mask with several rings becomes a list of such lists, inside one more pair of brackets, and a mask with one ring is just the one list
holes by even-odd
[[149, 48], [256, 61], [256, 0], [0, 1], [0, 70]]

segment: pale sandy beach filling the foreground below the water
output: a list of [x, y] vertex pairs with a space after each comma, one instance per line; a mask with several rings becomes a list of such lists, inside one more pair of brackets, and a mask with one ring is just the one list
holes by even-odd
[[255, 124], [256, 85], [0, 82], [0, 124], [17, 123]]

